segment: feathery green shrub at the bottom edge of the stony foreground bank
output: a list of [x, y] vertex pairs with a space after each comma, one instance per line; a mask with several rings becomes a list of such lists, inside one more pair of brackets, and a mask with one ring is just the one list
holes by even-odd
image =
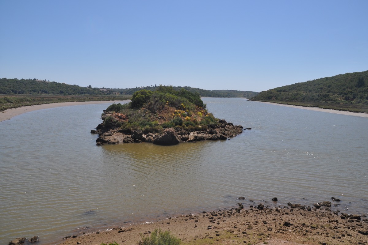
[[141, 234], [142, 241], [139, 241], [138, 245], [179, 245], [180, 238], [175, 237], [170, 231], [155, 230], [151, 233], [151, 236], [144, 236]]

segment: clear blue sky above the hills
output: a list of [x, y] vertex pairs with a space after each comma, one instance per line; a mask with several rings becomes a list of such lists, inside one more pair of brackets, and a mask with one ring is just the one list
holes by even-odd
[[262, 91], [368, 70], [368, 0], [0, 0], [0, 77]]

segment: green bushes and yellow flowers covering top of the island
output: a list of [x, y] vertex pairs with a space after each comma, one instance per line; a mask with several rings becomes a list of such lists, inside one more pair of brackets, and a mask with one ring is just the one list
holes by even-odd
[[116, 124], [126, 131], [140, 129], [144, 133], [155, 133], [168, 127], [207, 130], [215, 128], [219, 121], [206, 110], [198, 93], [184, 89], [176, 91], [172, 86], [162, 85], [153, 92], [139, 90], [133, 94], [130, 103], [112, 104], [106, 111], [113, 114], [105, 118], [105, 126]]

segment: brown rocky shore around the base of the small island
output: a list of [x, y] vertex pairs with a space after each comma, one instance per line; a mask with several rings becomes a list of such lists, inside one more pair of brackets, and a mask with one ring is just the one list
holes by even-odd
[[[114, 112], [105, 112], [102, 120], [110, 118], [111, 123], [100, 123], [96, 130], [91, 133], [99, 135], [96, 142], [101, 144], [119, 144], [119, 143], [153, 143], [158, 145], [175, 145], [182, 142], [195, 142], [205, 140], [226, 140], [235, 137], [243, 130], [241, 125], [233, 125], [226, 120], [219, 120], [215, 128], [198, 131], [188, 131], [181, 127], [166, 128], [159, 133], [144, 133], [142, 130], [125, 130], [118, 127], [119, 123], [123, 123], [127, 118], [123, 114]], [[248, 128], [250, 129], [250, 128]]]

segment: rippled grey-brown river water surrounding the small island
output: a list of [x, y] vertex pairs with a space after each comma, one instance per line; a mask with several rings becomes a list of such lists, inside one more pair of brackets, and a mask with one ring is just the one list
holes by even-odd
[[[230, 140], [96, 146], [111, 103], [28, 112], [0, 123], [0, 244], [39, 244], [123, 224], [262, 202], [368, 213], [368, 119], [243, 98], [203, 98], [251, 127]], [[271, 199], [277, 197], [277, 203]], [[254, 202], [248, 201], [254, 199]]]

